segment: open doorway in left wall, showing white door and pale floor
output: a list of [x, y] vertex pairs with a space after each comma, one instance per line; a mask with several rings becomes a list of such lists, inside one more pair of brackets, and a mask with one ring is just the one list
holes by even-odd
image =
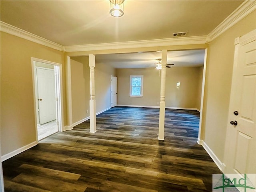
[[37, 140], [61, 131], [60, 65], [32, 58]]

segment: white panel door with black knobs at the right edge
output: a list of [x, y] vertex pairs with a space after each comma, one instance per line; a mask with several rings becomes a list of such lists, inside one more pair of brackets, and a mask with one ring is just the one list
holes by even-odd
[[235, 42], [225, 173], [255, 174], [256, 30], [236, 38]]

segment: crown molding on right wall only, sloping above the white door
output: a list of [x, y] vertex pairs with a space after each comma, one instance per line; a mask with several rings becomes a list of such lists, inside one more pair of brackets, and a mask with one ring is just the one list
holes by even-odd
[[212, 32], [207, 36], [207, 42], [210, 42], [234, 26], [248, 14], [256, 10], [255, 0], [244, 1], [236, 10], [234, 10], [226, 19], [224, 19]]

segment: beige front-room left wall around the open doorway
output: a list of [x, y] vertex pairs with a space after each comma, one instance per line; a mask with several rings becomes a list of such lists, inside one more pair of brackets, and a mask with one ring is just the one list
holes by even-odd
[[36, 141], [31, 57], [64, 64], [63, 52], [1, 32], [2, 155]]

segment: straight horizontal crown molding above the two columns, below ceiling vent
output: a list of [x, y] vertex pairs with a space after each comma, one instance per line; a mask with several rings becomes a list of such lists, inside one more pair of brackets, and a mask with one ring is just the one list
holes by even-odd
[[205, 44], [206, 36], [65, 46], [66, 52]]

